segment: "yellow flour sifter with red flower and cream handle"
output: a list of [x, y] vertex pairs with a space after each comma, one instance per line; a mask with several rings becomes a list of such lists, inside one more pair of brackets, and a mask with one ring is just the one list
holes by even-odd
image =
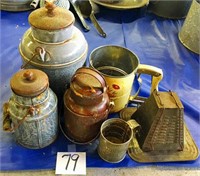
[[151, 92], [158, 90], [163, 72], [160, 68], [140, 64], [135, 53], [127, 48], [114, 45], [100, 46], [94, 49], [89, 57], [90, 66], [97, 69], [104, 76], [108, 85], [108, 95], [114, 102], [111, 113], [119, 112], [135, 95], [131, 95], [136, 73], [152, 76]]

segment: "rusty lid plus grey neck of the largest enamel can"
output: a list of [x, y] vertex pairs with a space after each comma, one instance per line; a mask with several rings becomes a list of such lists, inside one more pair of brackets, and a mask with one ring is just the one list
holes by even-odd
[[34, 38], [39, 41], [57, 43], [72, 38], [74, 15], [55, 4], [46, 3], [45, 7], [32, 11], [28, 21]]

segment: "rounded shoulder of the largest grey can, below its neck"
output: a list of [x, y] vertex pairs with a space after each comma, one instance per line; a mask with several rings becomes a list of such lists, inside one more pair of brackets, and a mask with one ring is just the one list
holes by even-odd
[[[28, 29], [20, 43], [19, 50], [23, 60], [42, 68], [55, 69], [85, 59], [87, 43], [83, 34], [73, 27], [73, 39], [61, 43], [47, 43], [35, 40], [31, 28]], [[85, 61], [85, 60], [84, 60]]]

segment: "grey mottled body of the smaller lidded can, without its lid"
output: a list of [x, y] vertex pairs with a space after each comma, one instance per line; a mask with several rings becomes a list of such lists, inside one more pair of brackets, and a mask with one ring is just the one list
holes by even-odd
[[[32, 114], [29, 113], [30, 108], [34, 109]], [[22, 97], [13, 93], [9, 100], [8, 111], [13, 127], [20, 123], [14, 131], [14, 136], [22, 146], [39, 149], [48, 146], [56, 139], [57, 97], [50, 88], [37, 97]], [[25, 120], [22, 120], [24, 117]]]

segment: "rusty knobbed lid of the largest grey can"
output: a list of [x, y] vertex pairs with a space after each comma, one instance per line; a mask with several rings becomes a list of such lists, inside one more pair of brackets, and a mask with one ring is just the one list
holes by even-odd
[[72, 12], [61, 7], [56, 7], [52, 2], [46, 2], [41, 7], [31, 12], [28, 17], [31, 26], [43, 30], [59, 30], [71, 25], [75, 18]]

